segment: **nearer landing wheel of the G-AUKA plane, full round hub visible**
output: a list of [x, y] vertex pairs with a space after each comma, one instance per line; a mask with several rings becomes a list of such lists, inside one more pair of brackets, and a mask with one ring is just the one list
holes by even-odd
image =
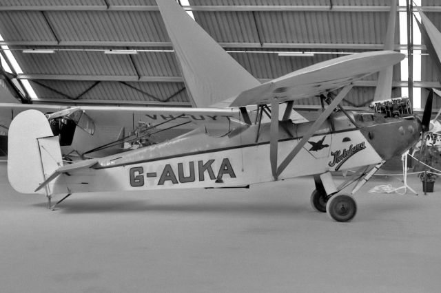
[[334, 195], [328, 200], [326, 210], [335, 221], [351, 221], [357, 213], [357, 203], [350, 195]]

